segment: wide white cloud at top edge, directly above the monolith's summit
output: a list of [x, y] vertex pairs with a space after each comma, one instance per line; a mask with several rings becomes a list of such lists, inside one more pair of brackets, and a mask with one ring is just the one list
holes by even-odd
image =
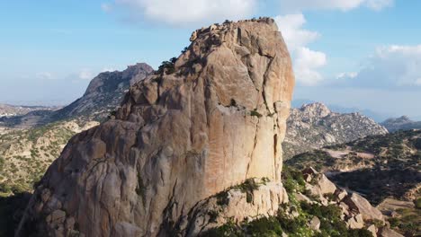
[[188, 25], [245, 18], [256, 4], [256, 0], [114, 0], [113, 6], [128, 9], [133, 19]]

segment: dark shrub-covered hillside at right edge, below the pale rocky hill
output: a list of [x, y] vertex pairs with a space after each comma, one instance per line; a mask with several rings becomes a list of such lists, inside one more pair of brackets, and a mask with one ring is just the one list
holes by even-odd
[[421, 131], [367, 136], [299, 154], [286, 163], [325, 172], [338, 186], [379, 205], [400, 233], [421, 234]]

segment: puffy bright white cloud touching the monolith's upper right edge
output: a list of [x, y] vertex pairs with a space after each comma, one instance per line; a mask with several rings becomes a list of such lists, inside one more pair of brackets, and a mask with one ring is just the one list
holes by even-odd
[[297, 82], [315, 85], [322, 81], [323, 76], [318, 73], [318, 69], [327, 64], [326, 54], [308, 48], [308, 44], [317, 40], [320, 34], [302, 29], [306, 19], [301, 13], [276, 16], [274, 20], [291, 52]]

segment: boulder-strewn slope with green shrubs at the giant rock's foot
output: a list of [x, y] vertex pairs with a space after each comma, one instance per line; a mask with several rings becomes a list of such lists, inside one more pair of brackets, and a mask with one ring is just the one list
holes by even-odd
[[[275, 215], [262, 215], [239, 223], [231, 220], [200, 236], [402, 236], [390, 229], [380, 210], [365, 198], [336, 187], [318, 171], [284, 167], [282, 183], [288, 202], [282, 202]], [[220, 212], [215, 214], [204, 209], [202, 213], [207, 211], [209, 218], [218, 220], [241, 193], [243, 199], [249, 195], [250, 202], [259, 201], [256, 195], [264, 185], [264, 180], [247, 180], [210, 198], [210, 203], [215, 201], [219, 205]]]

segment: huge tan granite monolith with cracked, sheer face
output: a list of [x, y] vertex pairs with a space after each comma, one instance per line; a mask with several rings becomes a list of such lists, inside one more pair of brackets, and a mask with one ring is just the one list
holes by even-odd
[[19, 234], [165, 236], [205, 198], [249, 178], [281, 180], [294, 77], [275, 23], [212, 25], [191, 40], [130, 88], [116, 119], [70, 140]]

